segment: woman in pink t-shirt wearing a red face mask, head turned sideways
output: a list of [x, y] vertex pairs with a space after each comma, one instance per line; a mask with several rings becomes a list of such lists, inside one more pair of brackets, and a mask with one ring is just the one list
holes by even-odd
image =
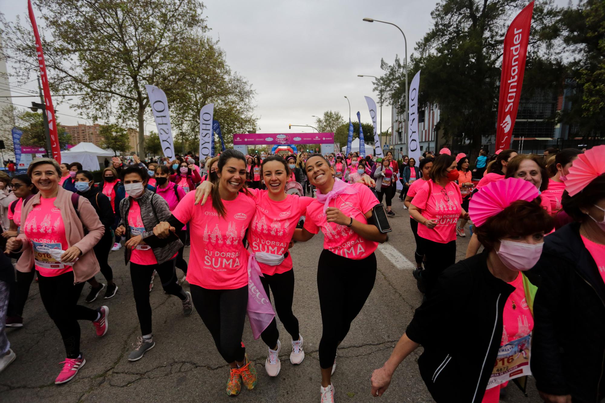
[[454, 182], [459, 177], [456, 158], [441, 154], [433, 163], [430, 177], [410, 204], [410, 215], [421, 224], [418, 236], [423, 238], [427, 257], [422, 282], [427, 293], [439, 274], [456, 262], [456, 223], [461, 217], [468, 220], [461, 206], [460, 188]]

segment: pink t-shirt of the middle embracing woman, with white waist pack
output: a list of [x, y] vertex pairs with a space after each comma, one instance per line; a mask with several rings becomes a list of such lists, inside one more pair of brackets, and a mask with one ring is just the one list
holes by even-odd
[[[257, 203], [257, 212], [248, 230], [247, 239], [250, 248], [255, 253], [286, 254], [298, 220], [314, 199], [289, 194], [284, 200], [273, 201], [267, 190], [249, 189], [249, 191]], [[282, 274], [292, 269], [292, 256], [288, 254], [288, 257], [278, 266], [269, 266], [260, 262], [258, 266], [263, 274]]]

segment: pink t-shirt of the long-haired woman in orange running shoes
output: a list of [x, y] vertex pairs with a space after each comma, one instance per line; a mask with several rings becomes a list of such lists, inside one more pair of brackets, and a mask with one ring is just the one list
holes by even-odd
[[254, 199], [240, 192], [234, 200], [223, 200], [224, 218], [212, 208], [211, 198], [203, 206], [194, 201], [195, 192], [189, 192], [172, 211], [190, 226], [187, 281], [215, 290], [246, 286], [248, 252], [242, 240], [257, 209]]

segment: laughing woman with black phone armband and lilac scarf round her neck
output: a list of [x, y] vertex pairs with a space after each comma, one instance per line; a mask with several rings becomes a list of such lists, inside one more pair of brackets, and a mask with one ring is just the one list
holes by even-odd
[[367, 186], [347, 185], [335, 179], [334, 168], [320, 154], [309, 157], [306, 169], [317, 188], [317, 198], [307, 207], [304, 227], [295, 231], [293, 239], [310, 240], [319, 229], [324, 233], [317, 269], [323, 326], [319, 342], [320, 392], [322, 401], [333, 401], [331, 376], [336, 368], [336, 348], [374, 287], [374, 251], [379, 242], [387, 240], [387, 234], [368, 224], [379, 201]]

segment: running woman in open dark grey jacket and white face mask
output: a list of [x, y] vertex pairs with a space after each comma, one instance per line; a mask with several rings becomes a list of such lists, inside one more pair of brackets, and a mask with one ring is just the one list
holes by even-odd
[[120, 201], [120, 224], [117, 235], [125, 235], [124, 261], [130, 262], [132, 292], [137, 307], [137, 316], [141, 335], [137, 337], [134, 350], [128, 355], [128, 361], [143, 358], [147, 350], [155, 347], [151, 330], [151, 304], [149, 304], [149, 279], [154, 272], [160, 276], [162, 287], [167, 294], [175, 295], [183, 304], [183, 315], [189, 316], [193, 310], [191, 293], [178, 285], [174, 263], [178, 249], [183, 246], [180, 240], [174, 240], [162, 247], [153, 247], [143, 238], [151, 234], [152, 229], [170, 216], [168, 203], [146, 189], [147, 170], [139, 166], [122, 169], [125, 197]]

